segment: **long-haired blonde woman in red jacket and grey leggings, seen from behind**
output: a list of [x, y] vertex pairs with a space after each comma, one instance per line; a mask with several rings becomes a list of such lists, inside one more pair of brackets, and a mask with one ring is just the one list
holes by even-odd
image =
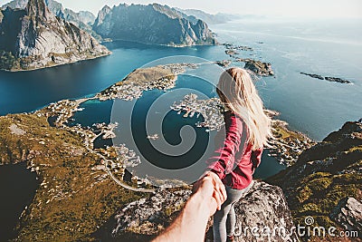
[[271, 135], [271, 119], [264, 113], [262, 100], [249, 73], [241, 68], [225, 71], [217, 93], [227, 111], [224, 131], [215, 139], [214, 155], [207, 160], [209, 171], [224, 183], [227, 199], [214, 214], [214, 241], [233, 241], [233, 205], [252, 187], [252, 174], [259, 166], [262, 149]]

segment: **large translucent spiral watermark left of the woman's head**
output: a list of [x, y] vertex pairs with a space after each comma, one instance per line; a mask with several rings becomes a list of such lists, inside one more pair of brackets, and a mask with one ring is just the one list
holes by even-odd
[[[139, 164], [129, 164], [127, 169], [155, 186], [166, 179], [194, 182], [205, 172], [208, 152], [214, 150], [215, 132], [207, 132], [207, 125], [222, 115], [203, 110], [200, 101], [217, 97], [216, 84], [224, 69], [202, 58], [172, 56], [138, 70], [129, 74], [126, 82], [131, 82], [119, 88], [122, 98], [113, 102], [110, 120], [119, 123], [113, 145], [125, 144], [136, 153]], [[180, 103], [187, 97], [186, 104]], [[203, 121], [208, 122], [206, 128], [197, 128], [196, 123]], [[119, 160], [124, 160], [124, 154], [119, 153]]]

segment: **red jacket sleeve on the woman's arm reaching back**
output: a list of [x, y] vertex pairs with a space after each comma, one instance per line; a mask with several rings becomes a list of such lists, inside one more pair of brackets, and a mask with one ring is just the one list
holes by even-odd
[[235, 154], [239, 151], [242, 139], [243, 121], [235, 116], [231, 116], [229, 121], [225, 121], [224, 142], [214, 150], [214, 154], [206, 161], [208, 169], [224, 179], [226, 174], [233, 169]]

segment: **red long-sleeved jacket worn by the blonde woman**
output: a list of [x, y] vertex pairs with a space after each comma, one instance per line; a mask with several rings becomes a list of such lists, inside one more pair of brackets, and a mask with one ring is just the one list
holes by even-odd
[[232, 189], [244, 189], [252, 182], [252, 174], [261, 163], [262, 148], [252, 150], [246, 143], [247, 129], [243, 120], [231, 111], [224, 112], [225, 129], [215, 138], [215, 150], [207, 160], [208, 169]]

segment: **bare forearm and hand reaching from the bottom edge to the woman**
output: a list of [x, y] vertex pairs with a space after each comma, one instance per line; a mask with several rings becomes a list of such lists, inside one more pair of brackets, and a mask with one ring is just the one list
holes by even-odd
[[185, 208], [153, 242], [204, 241], [208, 218], [226, 200], [226, 190], [213, 172], [206, 173], [204, 178], [196, 181], [193, 190]]

